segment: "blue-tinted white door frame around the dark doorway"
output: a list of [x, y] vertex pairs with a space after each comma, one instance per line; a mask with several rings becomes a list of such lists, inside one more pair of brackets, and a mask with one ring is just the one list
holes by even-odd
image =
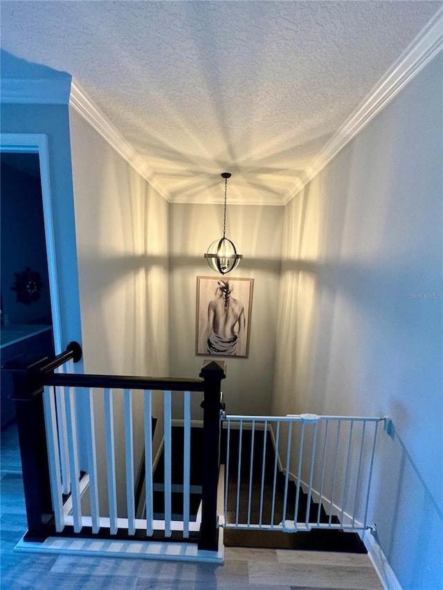
[[0, 152], [2, 151], [39, 154], [54, 348], [55, 354], [60, 354], [62, 352], [62, 315], [60, 313], [60, 290], [57, 276], [51, 176], [49, 174], [48, 136], [44, 133], [0, 133]]

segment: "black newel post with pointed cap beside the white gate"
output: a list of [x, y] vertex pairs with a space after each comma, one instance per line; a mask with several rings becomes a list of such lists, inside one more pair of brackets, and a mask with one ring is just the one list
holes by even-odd
[[201, 369], [205, 389], [201, 407], [203, 414], [203, 482], [201, 492], [201, 526], [199, 549], [218, 550], [217, 488], [220, 467], [220, 384], [226, 378], [225, 362], [209, 362]]

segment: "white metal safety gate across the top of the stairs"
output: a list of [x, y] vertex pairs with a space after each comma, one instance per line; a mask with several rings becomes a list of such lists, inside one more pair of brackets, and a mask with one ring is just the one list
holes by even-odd
[[224, 528], [368, 528], [379, 423], [355, 416], [224, 416]]

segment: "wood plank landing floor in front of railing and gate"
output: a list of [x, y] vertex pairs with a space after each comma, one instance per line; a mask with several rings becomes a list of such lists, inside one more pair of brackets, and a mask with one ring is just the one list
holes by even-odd
[[226, 547], [223, 566], [18, 553], [26, 513], [17, 433], [1, 433], [1, 578], [9, 589], [380, 589], [368, 555]]

